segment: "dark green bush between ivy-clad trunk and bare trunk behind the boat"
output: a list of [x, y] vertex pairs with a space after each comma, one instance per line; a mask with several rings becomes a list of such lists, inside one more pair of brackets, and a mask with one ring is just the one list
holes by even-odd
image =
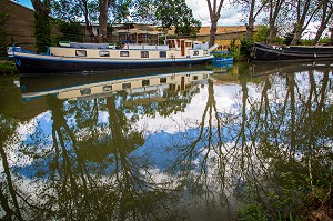
[[57, 20], [58, 29], [62, 36], [58, 37], [59, 41], [83, 41], [83, 32], [80, 23], [64, 22], [60, 19]]

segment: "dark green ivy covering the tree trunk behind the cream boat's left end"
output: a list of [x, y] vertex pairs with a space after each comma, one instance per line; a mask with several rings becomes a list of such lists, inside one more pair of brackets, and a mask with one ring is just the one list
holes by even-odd
[[51, 46], [51, 23], [48, 14], [34, 12], [34, 37], [37, 52], [47, 52]]

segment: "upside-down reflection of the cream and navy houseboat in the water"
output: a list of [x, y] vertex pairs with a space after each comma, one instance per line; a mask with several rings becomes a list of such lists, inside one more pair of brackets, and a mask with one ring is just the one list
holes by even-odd
[[181, 91], [209, 79], [204, 68], [160, 69], [151, 72], [99, 73], [97, 76], [59, 76], [20, 79], [24, 101], [53, 94], [59, 99], [93, 99], [124, 91], [148, 94], [160, 90]]

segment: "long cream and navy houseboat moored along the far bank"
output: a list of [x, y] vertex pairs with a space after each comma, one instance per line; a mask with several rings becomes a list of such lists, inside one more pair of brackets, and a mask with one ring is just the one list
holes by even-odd
[[185, 39], [169, 39], [164, 46], [123, 44], [110, 49], [109, 44], [80, 44], [50, 47], [46, 54], [14, 52], [20, 73], [61, 73], [104, 71], [151, 67], [200, 64], [213, 59], [209, 48]]

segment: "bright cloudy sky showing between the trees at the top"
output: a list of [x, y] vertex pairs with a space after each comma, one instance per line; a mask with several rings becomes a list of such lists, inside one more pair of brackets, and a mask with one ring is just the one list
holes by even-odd
[[[32, 9], [31, 0], [18, 0], [20, 4], [23, 4]], [[202, 26], [210, 26], [210, 14], [208, 3], [205, 0], [185, 0], [189, 8], [192, 9], [193, 17], [202, 22]], [[240, 26], [240, 13], [238, 9], [231, 7], [226, 0], [223, 4], [219, 26]]]

